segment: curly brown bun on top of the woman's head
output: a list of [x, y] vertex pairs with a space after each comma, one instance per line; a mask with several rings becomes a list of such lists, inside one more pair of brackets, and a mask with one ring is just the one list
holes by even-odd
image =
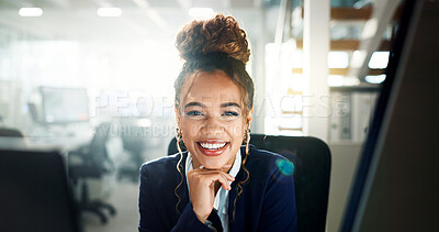
[[250, 56], [246, 32], [233, 16], [223, 14], [187, 24], [177, 35], [176, 46], [185, 60], [222, 52], [246, 64]]

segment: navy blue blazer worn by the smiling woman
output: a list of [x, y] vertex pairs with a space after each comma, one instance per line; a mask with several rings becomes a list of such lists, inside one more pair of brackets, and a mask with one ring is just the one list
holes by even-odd
[[[243, 158], [245, 146], [241, 146]], [[212, 230], [202, 223], [192, 210], [185, 181], [184, 164], [188, 153], [183, 153], [180, 170], [183, 183], [177, 192], [175, 189], [181, 180], [177, 172], [179, 154], [167, 156], [144, 164], [140, 167], [139, 189], [139, 232], [146, 231], [205, 231]], [[237, 194], [236, 184], [246, 178], [240, 168], [232, 184], [228, 202], [229, 230], [233, 231], [296, 231], [296, 205], [292, 163], [282, 156], [257, 150], [250, 146], [246, 167], [249, 180], [243, 186], [243, 194], [236, 202], [233, 220], [234, 199]], [[217, 231], [223, 231], [219, 217], [213, 209], [207, 220], [213, 222]]]

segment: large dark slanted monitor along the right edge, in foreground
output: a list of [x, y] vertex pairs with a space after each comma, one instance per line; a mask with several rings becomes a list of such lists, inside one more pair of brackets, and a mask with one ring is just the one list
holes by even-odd
[[340, 231], [439, 231], [439, 1], [407, 0]]

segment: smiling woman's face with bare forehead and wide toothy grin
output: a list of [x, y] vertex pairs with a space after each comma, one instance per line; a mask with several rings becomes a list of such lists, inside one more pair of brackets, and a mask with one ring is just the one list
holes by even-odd
[[194, 168], [228, 170], [251, 121], [241, 90], [224, 71], [216, 70], [198, 73], [181, 92], [177, 120]]

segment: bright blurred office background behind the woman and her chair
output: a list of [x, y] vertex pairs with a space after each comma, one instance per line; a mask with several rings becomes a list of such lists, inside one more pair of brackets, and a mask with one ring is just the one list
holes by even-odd
[[[99, 125], [114, 172], [87, 180], [117, 211], [86, 231], [135, 231], [137, 172], [165, 156], [176, 122], [175, 37], [214, 12], [238, 19], [252, 56], [252, 132], [311, 135], [333, 154], [337, 231], [380, 84], [398, 0], [0, 0], [0, 126], [32, 146], [90, 147]], [[102, 129], [102, 128], [101, 128]], [[75, 162], [75, 161], [72, 161]], [[81, 190], [78, 190], [81, 191]], [[80, 195], [80, 194], [78, 194]]]

